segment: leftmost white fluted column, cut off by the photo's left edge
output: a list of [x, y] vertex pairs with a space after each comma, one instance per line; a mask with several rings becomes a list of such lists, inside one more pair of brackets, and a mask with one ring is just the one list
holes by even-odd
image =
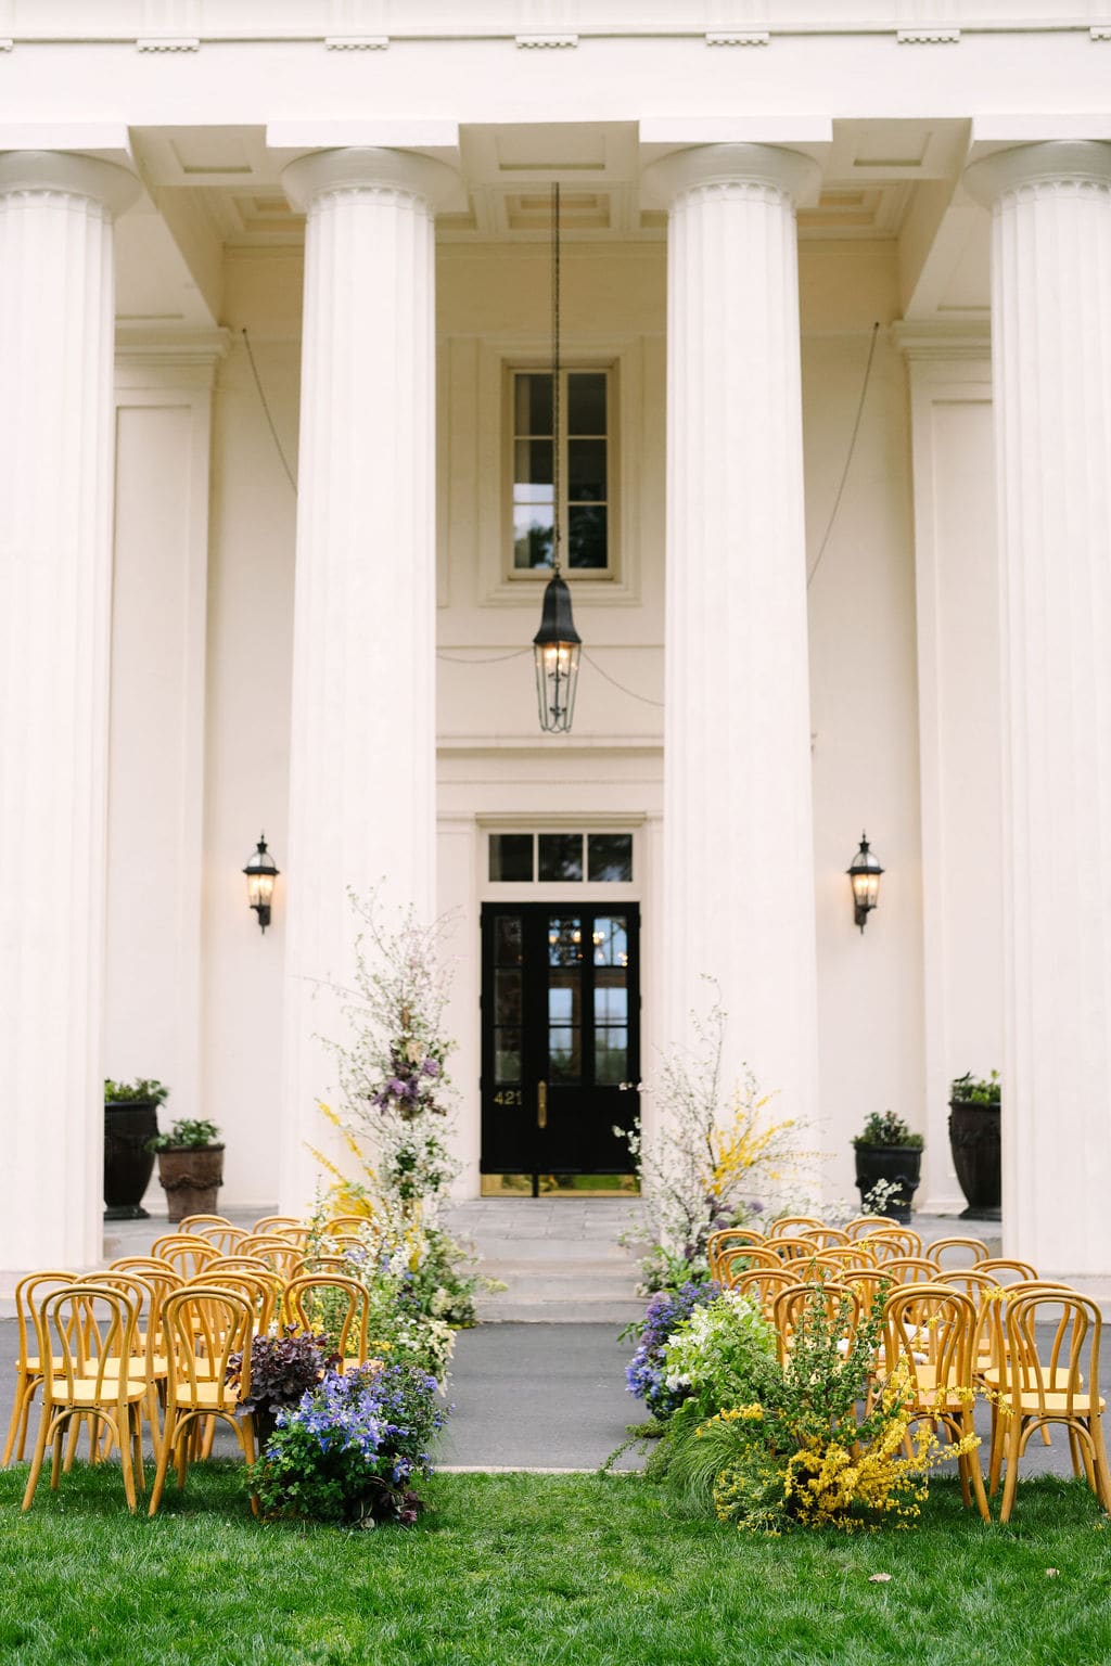
[[0, 155], [7, 1273], [102, 1254], [112, 215], [137, 195], [105, 162]]

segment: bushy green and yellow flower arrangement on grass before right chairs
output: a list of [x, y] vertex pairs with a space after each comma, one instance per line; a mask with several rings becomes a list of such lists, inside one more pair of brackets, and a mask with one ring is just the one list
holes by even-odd
[[[741, 1368], [725, 1383], [713, 1326], [706, 1346], [688, 1333], [686, 1363], [701, 1393], [676, 1409], [650, 1469], [741, 1531], [909, 1526], [929, 1469], [971, 1451], [978, 1436], [943, 1444], [929, 1423], [914, 1429], [904, 1366], [876, 1384], [881, 1306], [853, 1329], [849, 1301], [831, 1303], [816, 1286], [786, 1361], [753, 1348], [746, 1361], [735, 1356]], [[673, 1349], [676, 1358], [675, 1341]], [[721, 1404], [706, 1416], [715, 1389]]]

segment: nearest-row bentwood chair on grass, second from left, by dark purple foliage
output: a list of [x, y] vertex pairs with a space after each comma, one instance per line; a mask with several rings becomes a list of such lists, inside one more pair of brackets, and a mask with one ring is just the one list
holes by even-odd
[[[250, 1396], [252, 1338], [255, 1308], [247, 1294], [218, 1284], [177, 1289], [165, 1304], [170, 1348], [167, 1416], [158, 1443], [158, 1466], [150, 1493], [150, 1514], [162, 1503], [170, 1459], [177, 1464], [178, 1486], [185, 1486], [190, 1436], [205, 1418], [220, 1418], [235, 1429], [245, 1461], [255, 1461], [255, 1426], [237, 1416], [240, 1399]], [[238, 1381], [228, 1383], [228, 1361], [242, 1354]], [[257, 1508], [257, 1506], [253, 1506]]]

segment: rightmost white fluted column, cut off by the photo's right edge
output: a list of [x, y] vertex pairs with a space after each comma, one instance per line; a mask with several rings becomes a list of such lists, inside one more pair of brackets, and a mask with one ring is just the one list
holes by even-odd
[[[993, 208], [1003, 1231], [1111, 1271], [1111, 145], [969, 168]], [[969, 921], [974, 930], [974, 923]]]

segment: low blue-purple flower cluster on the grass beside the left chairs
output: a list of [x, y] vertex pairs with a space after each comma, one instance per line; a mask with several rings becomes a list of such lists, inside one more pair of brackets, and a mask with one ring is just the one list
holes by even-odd
[[423, 1509], [411, 1483], [431, 1473], [428, 1448], [445, 1418], [436, 1379], [416, 1366], [328, 1369], [278, 1413], [248, 1484], [272, 1519], [410, 1524]]

